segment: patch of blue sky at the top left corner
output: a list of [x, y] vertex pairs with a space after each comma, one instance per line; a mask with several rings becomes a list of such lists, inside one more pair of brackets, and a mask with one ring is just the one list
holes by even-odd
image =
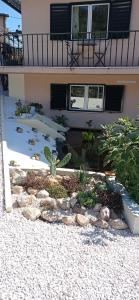
[[0, 0], [0, 13], [5, 13], [9, 15], [9, 18], [7, 18], [7, 28], [10, 31], [14, 31], [18, 29], [18, 25], [20, 25], [20, 29], [21, 29], [21, 14], [17, 13], [14, 9], [10, 8], [1, 0]]

